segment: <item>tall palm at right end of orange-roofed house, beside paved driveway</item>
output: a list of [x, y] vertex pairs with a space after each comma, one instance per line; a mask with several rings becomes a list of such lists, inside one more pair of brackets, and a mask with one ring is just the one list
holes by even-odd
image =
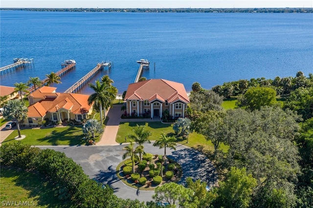
[[94, 93], [92, 93], [89, 98], [88, 98], [88, 104], [92, 104], [93, 102], [99, 106], [100, 108], [100, 120], [101, 120], [101, 125], [103, 124], [103, 119], [102, 119], [102, 105], [106, 102], [106, 96], [104, 94], [104, 87], [102, 83], [97, 80], [95, 84], [90, 83], [89, 87], [93, 89]]

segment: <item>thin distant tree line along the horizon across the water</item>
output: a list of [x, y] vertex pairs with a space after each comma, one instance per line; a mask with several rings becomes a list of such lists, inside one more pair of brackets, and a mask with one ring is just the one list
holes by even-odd
[[313, 8], [0, 8], [39, 12], [313, 13]]

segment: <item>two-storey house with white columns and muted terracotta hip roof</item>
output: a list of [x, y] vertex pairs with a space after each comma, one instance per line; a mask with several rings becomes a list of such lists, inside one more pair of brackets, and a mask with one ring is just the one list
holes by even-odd
[[162, 118], [163, 111], [170, 117], [185, 117], [190, 103], [182, 83], [153, 79], [129, 84], [125, 99], [128, 115], [149, 115]]

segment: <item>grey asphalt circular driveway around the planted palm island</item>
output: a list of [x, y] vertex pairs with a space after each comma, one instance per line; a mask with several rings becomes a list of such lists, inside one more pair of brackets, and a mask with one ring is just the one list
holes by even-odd
[[[164, 148], [151, 144], [144, 144], [145, 152], [152, 154], [164, 154]], [[113, 188], [114, 194], [122, 199], [138, 199], [148, 202], [153, 200], [154, 191], [139, 190], [125, 185], [116, 176], [116, 166], [122, 160], [123, 147], [118, 146], [38, 146], [42, 149], [50, 148], [64, 152], [67, 157], [72, 158], [77, 164], [82, 166], [84, 172], [91, 179], [95, 179], [103, 184], [108, 184]], [[178, 184], [184, 184], [187, 177], [194, 180], [201, 179], [210, 187], [217, 182], [217, 174], [212, 163], [200, 152], [178, 144], [176, 150], [166, 149], [167, 156], [177, 161], [182, 167], [182, 178]]]

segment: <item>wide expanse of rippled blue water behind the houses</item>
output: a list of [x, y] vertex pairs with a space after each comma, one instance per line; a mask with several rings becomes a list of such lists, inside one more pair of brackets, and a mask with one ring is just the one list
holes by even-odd
[[[267, 13], [83, 13], [0, 12], [0, 65], [33, 58], [34, 65], [0, 77], [1, 85], [44, 79], [76, 60], [76, 69], [55, 84], [57, 92], [111, 61], [108, 74], [122, 93], [134, 82], [139, 59], [143, 76], [210, 89], [217, 84], [313, 73], [313, 14]], [[86, 85], [79, 93], [90, 94]]]

